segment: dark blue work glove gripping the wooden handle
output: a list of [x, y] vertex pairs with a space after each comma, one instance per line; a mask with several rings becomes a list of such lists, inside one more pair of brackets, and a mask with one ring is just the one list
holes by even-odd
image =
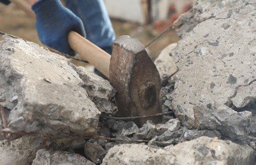
[[65, 8], [60, 0], [39, 0], [32, 5], [36, 13], [36, 29], [43, 44], [62, 53], [75, 56], [68, 44], [71, 30], [85, 37], [83, 22], [72, 11]]

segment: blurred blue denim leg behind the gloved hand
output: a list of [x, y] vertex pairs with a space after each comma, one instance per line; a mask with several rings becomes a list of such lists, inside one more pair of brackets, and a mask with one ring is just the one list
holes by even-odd
[[67, 8], [81, 18], [87, 39], [110, 53], [115, 32], [103, 0], [64, 0]]

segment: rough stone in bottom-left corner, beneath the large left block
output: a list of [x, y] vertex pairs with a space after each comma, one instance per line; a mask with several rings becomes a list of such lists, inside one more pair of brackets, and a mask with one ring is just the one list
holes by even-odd
[[43, 147], [43, 138], [23, 136], [0, 142], [0, 164], [31, 164], [36, 151]]

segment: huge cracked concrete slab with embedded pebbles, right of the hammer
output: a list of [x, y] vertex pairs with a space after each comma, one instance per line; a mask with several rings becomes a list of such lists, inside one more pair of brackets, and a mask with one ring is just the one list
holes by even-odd
[[255, 102], [255, 15], [255, 1], [198, 0], [175, 23], [183, 25], [171, 52], [180, 69], [172, 106], [187, 128], [209, 128], [210, 121], [229, 138], [248, 135], [250, 112], [234, 110]]

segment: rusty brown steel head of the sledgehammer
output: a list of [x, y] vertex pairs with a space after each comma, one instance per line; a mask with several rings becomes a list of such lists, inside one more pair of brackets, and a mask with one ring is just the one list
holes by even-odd
[[[120, 36], [113, 42], [110, 60], [110, 84], [117, 89], [118, 117], [146, 116], [162, 112], [160, 76], [145, 47], [136, 39]], [[141, 126], [162, 117], [147, 117], [134, 122]]]

